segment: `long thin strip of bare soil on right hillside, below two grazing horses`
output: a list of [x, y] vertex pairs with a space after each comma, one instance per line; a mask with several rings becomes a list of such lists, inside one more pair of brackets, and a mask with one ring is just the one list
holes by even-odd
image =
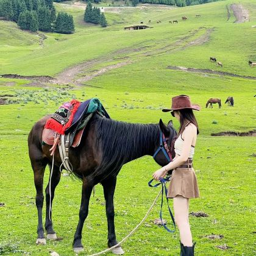
[[229, 72], [215, 71], [212, 69], [199, 69], [199, 68], [185, 68], [183, 66], [168, 66], [168, 69], [187, 71], [192, 73], [206, 73], [206, 74], [218, 74], [220, 76], [232, 76], [232, 77], [241, 77], [245, 79], [253, 79], [256, 80], [256, 76], [241, 76], [239, 74], [233, 74]]

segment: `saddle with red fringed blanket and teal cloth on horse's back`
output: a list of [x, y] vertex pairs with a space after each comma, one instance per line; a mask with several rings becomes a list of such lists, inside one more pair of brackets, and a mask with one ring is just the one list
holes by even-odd
[[43, 143], [52, 145], [51, 155], [54, 154], [57, 145], [59, 146], [62, 165], [67, 171], [73, 171], [68, 158], [69, 148], [79, 146], [85, 127], [94, 113], [110, 118], [97, 98], [88, 99], [84, 102], [73, 100], [59, 107], [44, 126]]

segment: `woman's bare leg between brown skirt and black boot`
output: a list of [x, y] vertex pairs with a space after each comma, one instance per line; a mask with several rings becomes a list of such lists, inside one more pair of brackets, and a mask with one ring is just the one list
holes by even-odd
[[190, 223], [188, 222], [189, 199], [176, 196], [173, 199], [174, 219], [180, 230], [180, 241], [184, 246], [193, 246]]

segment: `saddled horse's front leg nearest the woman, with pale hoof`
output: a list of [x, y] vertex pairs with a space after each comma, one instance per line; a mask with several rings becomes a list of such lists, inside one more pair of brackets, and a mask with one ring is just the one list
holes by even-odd
[[[107, 215], [107, 228], [108, 228], [108, 247], [115, 246], [118, 244], [116, 241], [115, 233], [115, 211], [114, 211], [114, 193], [116, 188], [116, 177], [110, 177], [101, 182], [104, 188], [104, 196], [106, 201], [106, 215]], [[116, 247], [112, 251], [114, 254], [124, 254], [124, 251], [121, 247]]]

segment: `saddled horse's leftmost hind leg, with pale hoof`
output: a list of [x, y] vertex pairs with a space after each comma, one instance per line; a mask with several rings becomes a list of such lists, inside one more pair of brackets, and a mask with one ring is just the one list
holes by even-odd
[[47, 165], [46, 159], [43, 158], [42, 152], [33, 146], [29, 148], [29, 157], [32, 169], [34, 171], [34, 183], [37, 195], [35, 197], [35, 204], [37, 205], [38, 226], [37, 226], [37, 244], [46, 244], [42, 220], [43, 208], [43, 175], [44, 169]]

